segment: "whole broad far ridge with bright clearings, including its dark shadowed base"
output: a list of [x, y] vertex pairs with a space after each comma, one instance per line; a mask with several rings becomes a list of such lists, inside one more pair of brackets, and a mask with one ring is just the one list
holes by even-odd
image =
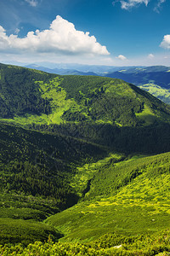
[[169, 107], [133, 84], [3, 64], [1, 73], [3, 122], [58, 132], [122, 153], [170, 150]]

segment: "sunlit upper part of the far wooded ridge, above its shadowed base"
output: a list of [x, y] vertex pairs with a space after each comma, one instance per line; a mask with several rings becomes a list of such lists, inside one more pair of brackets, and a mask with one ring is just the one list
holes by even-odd
[[119, 126], [169, 121], [167, 106], [119, 79], [59, 76], [0, 65], [0, 117], [22, 125], [90, 122]]

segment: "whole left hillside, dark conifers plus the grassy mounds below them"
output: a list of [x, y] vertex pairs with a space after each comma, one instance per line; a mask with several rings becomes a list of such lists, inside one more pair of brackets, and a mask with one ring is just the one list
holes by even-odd
[[[0, 243], [54, 240], [61, 235], [42, 224], [77, 203], [90, 173], [75, 186], [79, 169], [107, 150], [58, 134], [0, 124]], [[81, 172], [79, 177], [82, 177]]]

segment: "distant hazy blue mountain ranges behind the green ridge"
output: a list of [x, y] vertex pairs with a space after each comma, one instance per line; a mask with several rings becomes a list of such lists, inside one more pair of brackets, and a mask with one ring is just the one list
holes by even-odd
[[[39, 63], [41, 64], [41, 63]], [[168, 89], [169, 81], [169, 67], [152, 66], [152, 67], [110, 67], [110, 66], [90, 66], [90, 65], [76, 65], [76, 64], [52, 64], [43, 63], [45, 67], [37, 64], [27, 65], [26, 67], [35, 68], [48, 73], [58, 73], [61, 75], [100, 75], [117, 79], [124, 79], [125, 81], [139, 86], [153, 96], [156, 96], [162, 102], [170, 104]], [[46, 67], [47, 66], [47, 67]], [[49, 67], [62, 67], [48, 68]], [[77, 68], [77, 70], [71, 68]], [[70, 69], [69, 69], [70, 68]], [[86, 72], [82, 72], [85, 70]], [[93, 71], [93, 72], [92, 72]]]

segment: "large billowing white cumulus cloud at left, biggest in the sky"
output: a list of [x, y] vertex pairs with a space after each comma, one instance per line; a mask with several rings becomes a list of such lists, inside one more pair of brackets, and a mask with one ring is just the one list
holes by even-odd
[[0, 51], [11, 53], [54, 53], [56, 55], [109, 55], [89, 32], [77, 31], [74, 24], [59, 15], [49, 29], [28, 32], [25, 38], [8, 36], [0, 26]]

